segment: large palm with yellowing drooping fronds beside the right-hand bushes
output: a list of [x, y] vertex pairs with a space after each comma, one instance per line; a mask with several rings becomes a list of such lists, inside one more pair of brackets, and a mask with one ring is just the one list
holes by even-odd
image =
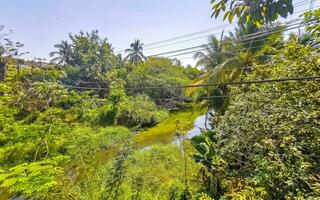
[[[214, 113], [223, 114], [229, 102], [229, 88], [223, 83], [234, 81], [244, 71], [250, 71], [249, 67], [252, 67], [254, 62], [260, 60], [265, 62], [267, 57], [265, 53], [270, 49], [272, 53], [278, 43], [281, 43], [281, 32], [263, 36], [263, 40], [259, 38], [259, 41], [252, 39], [248, 42], [237, 42], [239, 37], [257, 31], [259, 29], [250, 24], [240, 26], [236, 29], [235, 35], [231, 34], [223, 41], [222, 37], [220, 41], [211, 37], [210, 44], [206, 46], [204, 52], [195, 54], [195, 58], [200, 58], [197, 64], [204, 66], [207, 72], [194, 79], [192, 85], [216, 85], [202, 89], [191, 87], [186, 90], [187, 95], [195, 97], [198, 108], [206, 109], [207, 113], [213, 110]], [[206, 120], [207, 117], [208, 114]]]

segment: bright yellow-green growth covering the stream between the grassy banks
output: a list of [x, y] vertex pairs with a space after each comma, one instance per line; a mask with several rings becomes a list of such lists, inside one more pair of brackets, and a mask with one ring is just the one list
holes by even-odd
[[198, 112], [183, 111], [171, 114], [168, 119], [159, 123], [155, 127], [140, 132], [135, 137], [137, 148], [143, 148], [154, 144], [169, 144], [174, 140], [177, 130], [188, 131], [194, 125], [195, 119], [200, 115]]

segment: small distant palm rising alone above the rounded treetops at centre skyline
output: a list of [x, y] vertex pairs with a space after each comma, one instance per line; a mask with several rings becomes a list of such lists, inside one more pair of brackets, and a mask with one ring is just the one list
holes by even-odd
[[139, 39], [136, 39], [133, 43], [130, 44], [130, 49], [126, 49], [125, 52], [128, 53], [126, 60], [129, 60], [130, 63], [138, 65], [146, 59], [143, 55], [143, 43]]

